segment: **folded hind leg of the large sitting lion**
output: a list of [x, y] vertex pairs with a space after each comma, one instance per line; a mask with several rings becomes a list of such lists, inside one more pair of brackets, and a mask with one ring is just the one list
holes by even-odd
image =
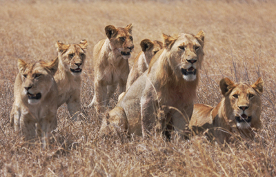
[[100, 136], [119, 136], [121, 132], [127, 132], [127, 130], [128, 119], [124, 109], [122, 107], [115, 107], [103, 118], [99, 134]]

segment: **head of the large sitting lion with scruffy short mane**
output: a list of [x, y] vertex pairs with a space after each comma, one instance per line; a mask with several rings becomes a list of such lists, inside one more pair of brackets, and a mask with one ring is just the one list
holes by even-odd
[[186, 81], [195, 81], [204, 56], [204, 32], [200, 31], [196, 36], [182, 33], [177, 37], [164, 34], [164, 43], [174, 59], [170, 65], [174, 66], [175, 74]]

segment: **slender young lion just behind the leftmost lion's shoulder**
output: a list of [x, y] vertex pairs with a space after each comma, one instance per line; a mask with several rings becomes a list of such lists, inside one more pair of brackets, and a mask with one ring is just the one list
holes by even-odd
[[79, 44], [63, 44], [57, 41], [59, 70], [55, 81], [59, 87], [58, 107], [67, 104], [72, 121], [77, 121], [77, 112], [81, 110], [81, 72], [86, 61], [88, 42], [83, 39]]

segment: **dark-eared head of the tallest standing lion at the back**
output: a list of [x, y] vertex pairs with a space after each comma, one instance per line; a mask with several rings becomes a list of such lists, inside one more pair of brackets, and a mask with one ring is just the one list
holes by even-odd
[[130, 58], [130, 52], [134, 48], [132, 38], [132, 24], [126, 26], [126, 28], [115, 28], [113, 25], [107, 25], [106, 36], [110, 41], [110, 46], [115, 57], [123, 57], [123, 59]]

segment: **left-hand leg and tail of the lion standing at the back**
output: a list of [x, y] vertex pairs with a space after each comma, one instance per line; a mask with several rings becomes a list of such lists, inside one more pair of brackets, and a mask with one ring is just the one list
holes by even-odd
[[105, 103], [104, 98], [106, 97], [108, 90], [106, 85], [101, 84], [99, 81], [95, 81], [95, 95], [88, 107], [92, 107], [92, 105], [95, 106], [96, 111], [103, 112], [103, 103]]

